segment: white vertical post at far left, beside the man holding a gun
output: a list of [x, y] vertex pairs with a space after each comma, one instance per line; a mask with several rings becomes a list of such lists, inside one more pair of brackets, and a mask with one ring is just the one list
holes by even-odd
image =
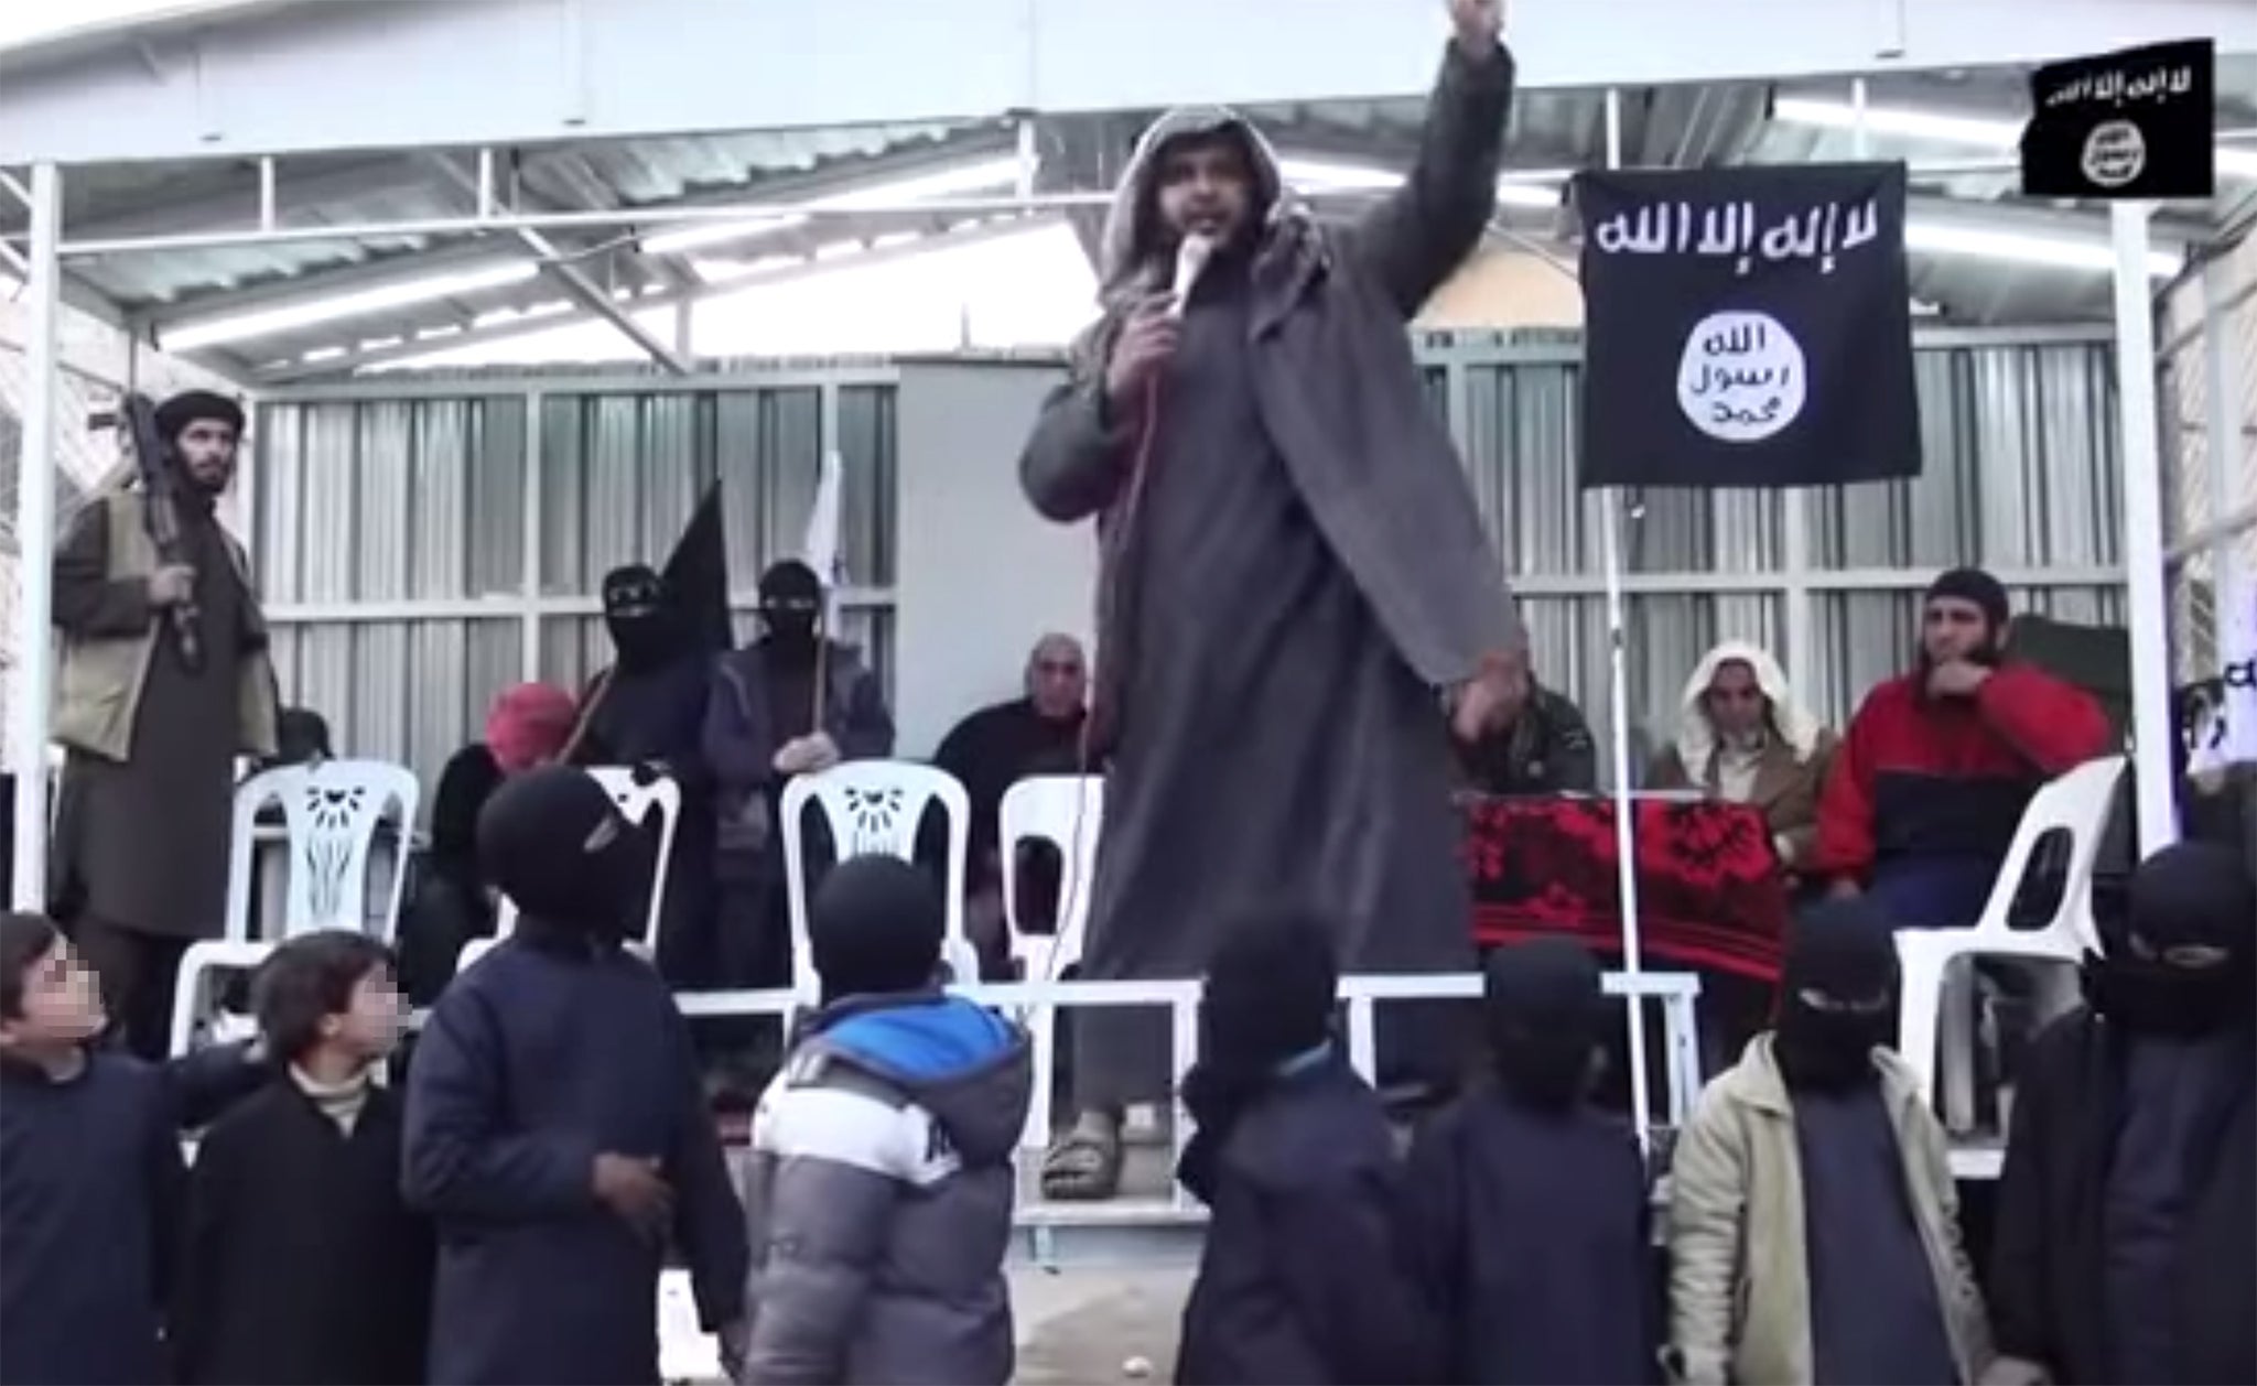
[[61, 379], [63, 174], [32, 167], [32, 253], [25, 293], [32, 339], [25, 343], [32, 388], [23, 409], [16, 460], [16, 688], [9, 702], [9, 747], [16, 754], [16, 889], [18, 910], [47, 907], [47, 702], [54, 688], [54, 404]]

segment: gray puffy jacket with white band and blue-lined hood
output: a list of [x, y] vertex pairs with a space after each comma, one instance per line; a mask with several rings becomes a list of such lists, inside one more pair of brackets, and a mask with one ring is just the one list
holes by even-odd
[[939, 993], [826, 1007], [752, 1124], [743, 1386], [1011, 1379], [1027, 1036]]

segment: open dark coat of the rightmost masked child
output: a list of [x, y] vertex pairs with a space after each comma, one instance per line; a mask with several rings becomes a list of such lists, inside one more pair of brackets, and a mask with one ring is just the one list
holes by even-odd
[[[2022, 1059], [1997, 1190], [1991, 1325], [2004, 1357], [2065, 1386], [2113, 1379], [2101, 1217], [2124, 1093], [2122, 1032], [2090, 1009]], [[2178, 1381], [2257, 1381], [2257, 1036], [2216, 1131], [2196, 1142], [2178, 1246]]]

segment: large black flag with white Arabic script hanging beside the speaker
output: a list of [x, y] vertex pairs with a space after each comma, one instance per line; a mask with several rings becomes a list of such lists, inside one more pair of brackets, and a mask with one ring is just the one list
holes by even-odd
[[1921, 474], [1905, 165], [1587, 172], [1582, 485]]

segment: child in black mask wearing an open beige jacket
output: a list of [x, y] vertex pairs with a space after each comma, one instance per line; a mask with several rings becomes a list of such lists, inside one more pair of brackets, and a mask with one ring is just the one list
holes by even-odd
[[1952, 1386], [1991, 1366], [1943, 1126], [1889, 1047], [1889, 923], [1797, 921], [1779, 1023], [1702, 1093], [1670, 1194], [1684, 1381]]

